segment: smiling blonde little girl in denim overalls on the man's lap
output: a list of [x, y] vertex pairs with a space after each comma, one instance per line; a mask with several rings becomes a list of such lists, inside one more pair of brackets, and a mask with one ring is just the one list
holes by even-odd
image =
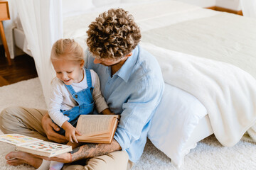
[[[60, 39], [53, 44], [50, 61], [56, 72], [52, 81], [49, 104], [50, 118], [60, 126], [61, 135], [69, 140], [67, 145], [78, 147], [75, 128], [79, 115], [92, 113], [112, 114], [100, 91], [100, 79], [93, 70], [84, 69], [83, 49], [70, 39]], [[61, 169], [63, 163], [51, 162], [50, 169]]]

